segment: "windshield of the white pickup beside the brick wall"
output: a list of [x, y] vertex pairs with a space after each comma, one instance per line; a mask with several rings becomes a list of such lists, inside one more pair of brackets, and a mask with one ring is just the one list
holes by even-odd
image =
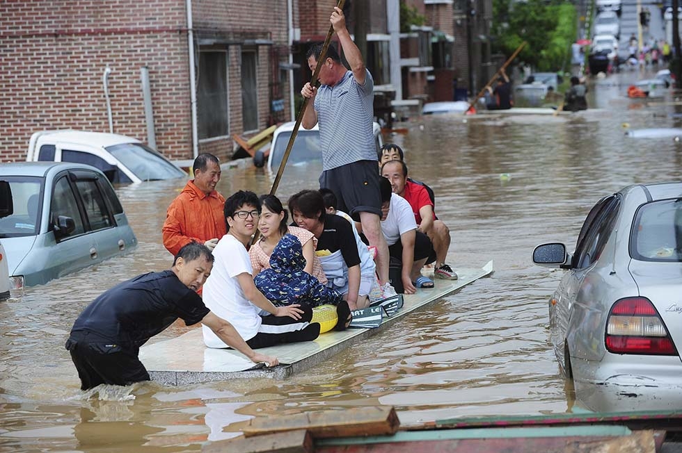
[[173, 179], [187, 176], [161, 154], [140, 143], [122, 143], [106, 148], [142, 181]]

